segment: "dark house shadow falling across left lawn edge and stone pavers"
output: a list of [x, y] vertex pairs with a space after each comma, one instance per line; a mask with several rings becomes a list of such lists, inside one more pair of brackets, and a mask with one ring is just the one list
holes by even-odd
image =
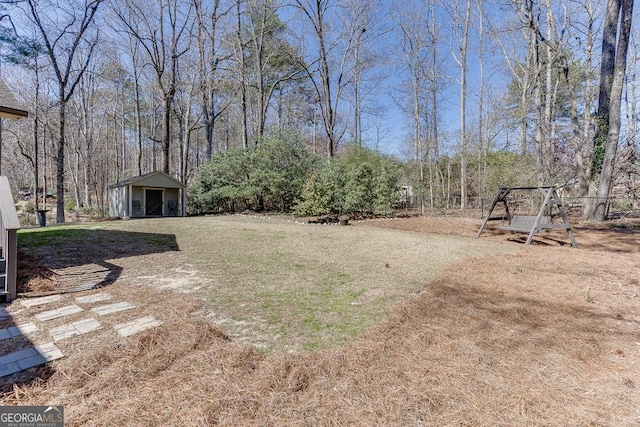
[[[173, 234], [55, 227], [20, 233], [18, 245], [20, 297], [108, 286], [122, 273], [122, 267], [113, 260], [179, 251]], [[20, 304], [19, 299], [12, 304]], [[0, 316], [0, 329], [3, 330], [0, 336], [0, 374], [10, 372], [14, 363], [11, 361], [12, 354], [36, 345], [24, 334], [8, 336], [7, 331], [16, 331], [17, 326], [18, 321], [3, 310]], [[4, 375], [0, 377], [0, 395], [17, 393], [20, 386], [46, 381], [54, 373], [51, 364], [45, 363]], [[16, 396], [16, 399], [19, 400], [20, 396]]]

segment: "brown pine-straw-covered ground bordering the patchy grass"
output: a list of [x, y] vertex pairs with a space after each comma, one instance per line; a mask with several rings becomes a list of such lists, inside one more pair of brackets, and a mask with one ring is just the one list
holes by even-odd
[[[479, 219], [356, 221], [474, 238]], [[363, 337], [313, 353], [230, 340], [187, 298], [146, 298], [162, 327], [103, 338], [2, 388], [69, 425], [640, 425], [640, 231], [618, 221], [480, 239]], [[353, 248], [354, 252], [358, 248]], [[425, 259], [424, 262], [429, 262]], [[145, 287], [109, 292], [145, 300]]]

